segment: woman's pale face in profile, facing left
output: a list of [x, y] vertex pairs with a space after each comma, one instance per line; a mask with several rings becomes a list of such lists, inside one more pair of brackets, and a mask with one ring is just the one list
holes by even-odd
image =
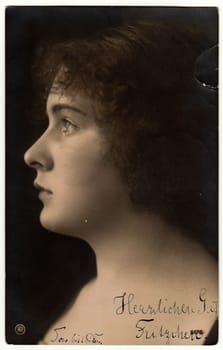
[[93, 101], [71, 88], [51, 89], [46, 110], [48, 128], [25, 153], [25, 162], [36, 170], [42, 225], [78, 236], [114, 220], [125, 192], [118, 172], [104, 160], [107, 146]]

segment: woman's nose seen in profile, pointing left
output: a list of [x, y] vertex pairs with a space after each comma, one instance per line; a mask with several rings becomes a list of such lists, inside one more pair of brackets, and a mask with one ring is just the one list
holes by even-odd
[[43, 134], [24, 154], [25, 163], [36, 170], [48, 171], [53, 167], [53, 159]]

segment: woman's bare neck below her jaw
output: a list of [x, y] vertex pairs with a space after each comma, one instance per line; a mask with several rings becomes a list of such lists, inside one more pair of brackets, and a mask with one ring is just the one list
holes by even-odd
[[137, 274], [143, 266], [146, 271], [150, 265], [157, 266], [169, 231], [155, 215], [125, 213], [105, 232], [89, 239], [97, 258], [98, 278], [113, 280]]

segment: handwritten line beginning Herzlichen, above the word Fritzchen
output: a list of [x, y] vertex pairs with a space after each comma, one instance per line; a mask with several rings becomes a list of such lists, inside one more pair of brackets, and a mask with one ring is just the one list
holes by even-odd
[[189, 304], [178, 303], [176, 300], [170, 302], [167, 298], [160, 298], [155, 305], [142, 305], [135, 302], [135, 294], [124, 292], [122, 295], [115, 296], [113, 303], [117, 305], [115, 309], [116, 315], [123, 314], [135, 315], [157, 315], [157, 314], [171, 314], [175, 316], [217, 313], [217, 301], [209, 301], [207, 298], [207, 289], [201, 288], [197, 297], [198, 307], [195, 309]]

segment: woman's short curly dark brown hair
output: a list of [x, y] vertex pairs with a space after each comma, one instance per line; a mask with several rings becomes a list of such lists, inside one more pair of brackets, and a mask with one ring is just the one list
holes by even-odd
[[65, 67], [61, 87], [99, 103], [107, 158], [140, 206], [165, 212], [167, 201], [204, 193], [210, 155], [194, 134], [205, 113], [194, 64], [205, 45], [191, 28], [144, 20], [40, 51], [46, 92]]

